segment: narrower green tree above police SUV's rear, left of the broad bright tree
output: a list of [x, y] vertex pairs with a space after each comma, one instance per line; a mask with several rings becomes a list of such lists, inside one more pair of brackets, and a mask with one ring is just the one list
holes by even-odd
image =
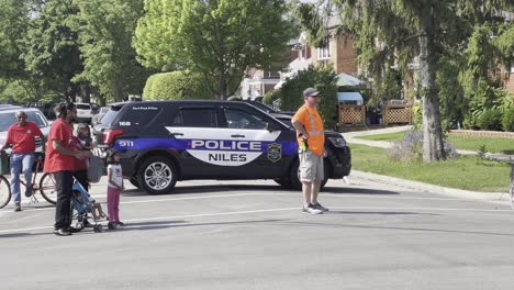
[[79, 35], [83, 71], [74, 81], [90, 82], [103, 98], [114, 101], [124, 100], [130, 93], [141, 94], [150, 70], [137, 63], [131, 42], [143, 15], [143, 1], [76, 0], [76, 3], [79, 12], [72, 26]]

